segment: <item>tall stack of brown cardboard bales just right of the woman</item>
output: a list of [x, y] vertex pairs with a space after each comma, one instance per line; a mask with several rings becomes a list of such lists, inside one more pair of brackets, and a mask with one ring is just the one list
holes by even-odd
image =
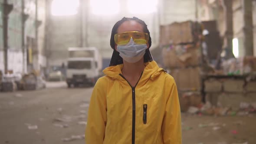
[[200, 23], [172, 23], [161, 26], [160, 31], [164, 67], [170, 70], [178, 90], [200, 90]]

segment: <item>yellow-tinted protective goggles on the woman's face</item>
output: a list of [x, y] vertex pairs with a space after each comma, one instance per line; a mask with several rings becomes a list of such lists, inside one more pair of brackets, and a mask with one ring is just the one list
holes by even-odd
[[137, 44], [148, 43], [148, 33], [142, 33], [137, 31], [115, 34], [115, 43], [117, 45], [126, 45], [127, 43], [129, 43], [131, 38]]

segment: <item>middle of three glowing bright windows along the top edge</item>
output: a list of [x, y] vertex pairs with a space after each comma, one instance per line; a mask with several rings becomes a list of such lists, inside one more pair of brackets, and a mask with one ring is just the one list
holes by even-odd
[[90, 0], [90, 6], [95, 15], [113, 15], [120, 10], [119, 0]]

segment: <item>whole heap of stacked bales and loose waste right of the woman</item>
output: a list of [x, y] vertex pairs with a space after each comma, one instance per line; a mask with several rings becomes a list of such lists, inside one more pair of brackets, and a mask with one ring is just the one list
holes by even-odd
[[215, 108], [239, 108], [241, 101], [256, 101], [256, 57], [236, 59], [222, 45], [216, 21], [160, 26], [162, 64], [175, 79], [182, 111], [194, 105], [190, 98], [200, 105], [206, 99]]

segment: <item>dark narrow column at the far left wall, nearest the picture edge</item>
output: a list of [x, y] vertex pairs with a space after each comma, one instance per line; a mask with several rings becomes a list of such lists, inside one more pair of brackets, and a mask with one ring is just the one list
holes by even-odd
[[8, 71], [8, 15], [13, 10], [13, 5], [8, 4], [7, 0], [3, 0], [2, 3], [2, 18], [3, 18], [3, 59], [4, 59], [4, 71]]

